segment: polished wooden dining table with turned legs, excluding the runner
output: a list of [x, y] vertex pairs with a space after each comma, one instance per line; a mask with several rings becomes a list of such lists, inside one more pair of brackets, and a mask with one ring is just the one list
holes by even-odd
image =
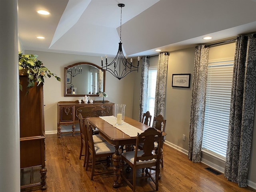
[[[97, 128], [99, 130], [99, 134], [116, 148], [115, 153], [112, 155], [114, 166], [113, 187], [116, 188], [119, 186], [118, 178], [120, 177], [119, 173], [121, 156], [119, 153], [119, 148], [120, 146], [125, 146], [126, 151], [131, 151], [133, 144], [136, 143], [137, 137], [130, 137], [100, 117], [89, 117], [87, 119], [92, 128]], [[124, 118], [124, 122], [142, 130], [143, 132], [150, 127], [126, 116]], [[162, 132], [162, 136], [164, 138], [166, 133]]]

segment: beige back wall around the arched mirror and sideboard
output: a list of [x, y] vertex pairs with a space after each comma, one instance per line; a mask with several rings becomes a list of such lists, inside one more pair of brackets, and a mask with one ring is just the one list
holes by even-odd
[[[76, 54], [63, 54], [52, 52], [41, 52], [33, 50], [25, 50], [26, 54], [38, 55], [38, 60], [44, 63], [51, 72], [57, 74], [62, 81], [58, 82], [55, 78], [45, 78], [44, 84], [44, 119], [45, 131], [47, 133], [57, 132], [57, 103], [59, 101], [74, 101], [80, 97], [64, 97], [64, 67], [76, 62], [90, 62], [96, 65], [101, 65], [100, 57], [85, 56]], [[111, 60], [111, 58], [109, 58]], [[134, 73], [134, 72], [133, 72]], [[109, 72], [106, 72], [106, 87], [105, 91], [108, 94], [109, 100], [114, 103], [126, 104], [125, 115], [132, 117], [133, 111], [133, 76], [129, 74], [125, 78], [118, 80]], [[137, 73], [136, 73], [137, 75]], [[94, 97], [94, 100], [102, 100], [102, 98]], [[76, 124], [79, 130], [78, 124]], [[72, 130], [71, 126], [62, 126], [62, 131]]]

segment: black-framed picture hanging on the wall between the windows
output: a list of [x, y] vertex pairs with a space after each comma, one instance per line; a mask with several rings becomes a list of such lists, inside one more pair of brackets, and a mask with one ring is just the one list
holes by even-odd
[[172, 74], [172, 87], [190, 88], [190, 74]]

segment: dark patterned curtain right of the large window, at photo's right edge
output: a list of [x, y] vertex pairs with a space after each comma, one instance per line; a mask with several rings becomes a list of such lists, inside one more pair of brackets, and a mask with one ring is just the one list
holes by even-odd
[[225, 177], [246, 187], [256, 93], [256, 35], [236, 39]]

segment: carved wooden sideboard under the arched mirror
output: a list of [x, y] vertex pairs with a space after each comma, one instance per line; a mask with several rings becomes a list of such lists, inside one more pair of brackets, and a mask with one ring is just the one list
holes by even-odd
[[60, 101], [58, 102], [58, 130], [60, 137], [61, 125], [72, 125], [72, 136], [75, 135], [75, 124], [78, 123], [78, 114], [81, 113], [83, 118], [97, 117], [98, 114], [92, 109], [101, 106], [106, 109], [105, 116], [114, 114], [114, 103], [105, 101], [94, 101], [93, 103], [79, 103], [78, 101]]

